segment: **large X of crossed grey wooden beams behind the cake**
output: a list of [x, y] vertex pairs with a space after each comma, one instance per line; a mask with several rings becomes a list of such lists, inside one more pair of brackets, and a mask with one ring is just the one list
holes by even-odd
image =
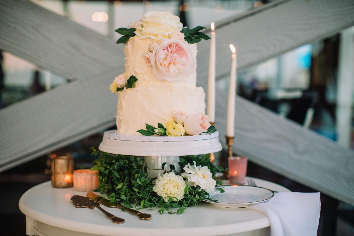
[[[228, 73], [229, 43], [244, 69], [354, 24], [351, 0], [280, 0], [217, 24], [217, 76]], [[108, 91], [124, 71], [123, 45], [31, 2], [0, 2], [0, 49], [73, 82], [0, 110], [0, 170], [115, 123]], [[198, 44], [206, 89], [209, 42]], [[217, 92], [223, 141], [226, 94]], [[258, 105], [236, 99], [234, 151], [290, 179], [354, 204], [354, 152]]]

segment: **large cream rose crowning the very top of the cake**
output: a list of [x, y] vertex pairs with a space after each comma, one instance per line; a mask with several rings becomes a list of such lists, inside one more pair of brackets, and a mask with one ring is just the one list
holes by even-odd
[[[141, 23], [140, 23], [141, 22]], [[135, 24], [135, 34], [141, 39], [162, 40], [182, 30], [179, 17], [169, 11], [148, 11], [139, 24]]]

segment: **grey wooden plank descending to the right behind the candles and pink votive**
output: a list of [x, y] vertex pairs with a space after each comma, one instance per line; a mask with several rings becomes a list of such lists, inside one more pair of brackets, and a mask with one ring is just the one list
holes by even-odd
[[[215, 126], [226, 148], [227, 94], [217, 94]], [[354, 204], [354, 151], [240, 97], [236, 97], [233, 151], [289, 179]]]

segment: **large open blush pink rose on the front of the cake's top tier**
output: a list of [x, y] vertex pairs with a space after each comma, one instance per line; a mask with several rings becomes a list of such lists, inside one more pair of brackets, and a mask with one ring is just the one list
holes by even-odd
[[154, 47], [150, 58], [157, 79], [182, 81], [192, 74], [196, 63], [187, 42], [164, 39]]

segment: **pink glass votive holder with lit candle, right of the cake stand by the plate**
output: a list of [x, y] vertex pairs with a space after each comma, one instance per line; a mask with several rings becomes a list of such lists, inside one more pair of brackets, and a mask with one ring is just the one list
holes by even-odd
[[247, 157], [229, 157], [230, 184], [243, 185], [246, 182]]

